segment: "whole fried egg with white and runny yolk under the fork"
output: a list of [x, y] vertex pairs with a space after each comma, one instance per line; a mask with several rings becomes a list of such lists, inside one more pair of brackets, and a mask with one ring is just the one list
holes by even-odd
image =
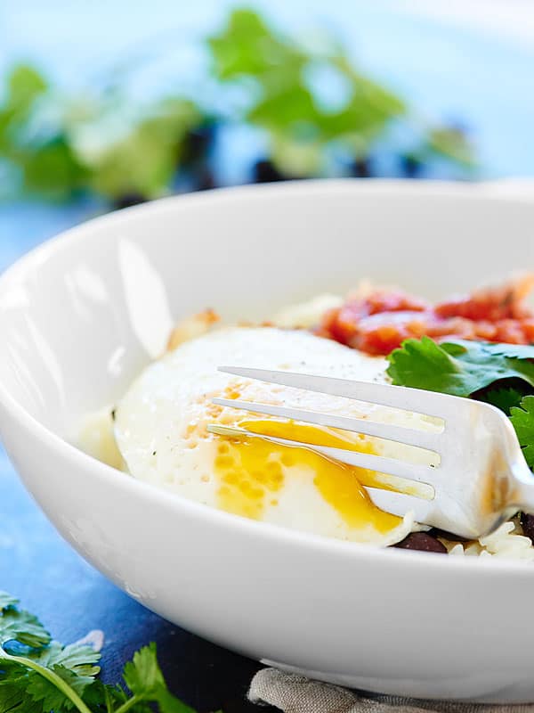
[[[359, 381], [385, 381], [386, 362], [309, 332], [229, 327], [182, 343], [148, 366], [115, 410], [117, 447], [134, 478], [241, 517], [323, 537], [390, 545], [413, 522], [379, 510], [364, 485], [380, 473], [336, 462], [309, 448], [254, 436], [216, 435], [210, 423], [322, 446], [419, 462], [413, 447], [392, 441], [214, 406], [212, 398], [295, 406], [328, 414], [397, 422], [422, 430], [419, 414], [251, 381], [217, 371], [247, 365]], [[415, 425], [414, 425], [415, 424]]]

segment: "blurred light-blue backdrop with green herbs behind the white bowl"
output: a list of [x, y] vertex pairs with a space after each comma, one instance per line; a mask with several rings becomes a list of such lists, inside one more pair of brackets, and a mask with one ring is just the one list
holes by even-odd
[[531, 0], [4, 0], [0, 269], [109, 209], [534, 174]]

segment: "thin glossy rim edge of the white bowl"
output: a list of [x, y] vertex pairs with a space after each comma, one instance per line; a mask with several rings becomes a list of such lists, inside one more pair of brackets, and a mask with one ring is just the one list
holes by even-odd
[[[506, 203], [530, 204], [533, 201], [525, 195], [514, 195], [505, 192], [499, 194], [495, 186], [499, 181], [485, 182], [481, 184], [457, 184], [448, 181], [433, 181], [432, 183], [421, 181], [408, 181], [405, 179], [371, 179], [361, 181], [357, 178], [347, 179], [312, 179], [305, 181], [291, 181], [283, 184], [252, 184], [243, 186], [231, 186], [228, 188], [217, 188], [202, 193], [185, 193], [174, 195], [157, 201], [149, 201], [138, 206], [126, 209], [115, 210], [108, 214], [94, 217], [62, 231], [53, 238], [50, 238], [33, 250], [16, 260], [0, 275], [0, 299], [20, 281], [30, 275], [43, 260], [53, 258], [57, 250], [61, 250], [64, 245], [84, 242], [87, 235], [93, 232], [94, 227], [114, 223], [120, 224], [128, 220], [134, 220], [136, 216], [142, 214], [156, 214], [174, 207], [175, 204], [187, 206], [204, 204], [206, 201], [241, 201], [247, 200], [249, 196], [259, 194], [277, 195], [292, 194], [318, 194], [322, 196], [328, 193], [337, 193], [340, 188], [355, 191], [361, 195], [384, 195], [401, 193], [409, 197], [437, 196], [445, 199], [457, 199], [471, 201], [473, 198], [484, 198], [491, 201], [505, 201]], [[490, 187], [490, 190], [486, 189]], [[159, 489], [150, 483], [133, 477], [125, 477], [125, 473], [102, 463], [92, 455], [85, 454], [80, 448], [70, 444], [53, 430], [48, 429], [36, 417], [20, 405], [11, 392], [0, 381], [0, 399], [5, 411], [18, 428], [28, 431], [32, 438], [41, 441], [45, 447], [54, 451], [61, 458], [70, 460], [75, 467], [82, 470], [91, 471], [93, 476], [104, 479], [106, 482], [110, 478], [116, 479], [117, 487], [125, 491], [139, 492], [140, 496], [150, 499], [153, 503], [162, 507], [173, 509], [177, 515], [190, 513], [207, 523], [218, 526], [240, 530], [244, 537], [260, 537], [264, 540], [287, 545], [298, 545], [308, 551], [329, 554], [330, 556], [343, 557], [347, 563], [356, 560], [384, 561], [387, 566], [389, 561], [403, 561], [405, 565], [413, 563], [414, 566], [425, 565], [425, 568], [436, 572], [441, 570], [454, 570], [458, 572], [476, 572], [477, 576], [488, 577], [501, 576], [500, 573], [516, 574], [518, 577], [529, 577], [532, 570], [528, 562], [506, 560], [498, 557], [471, 557], [471, 556], [447, 556], [441, 557], [435, 553], [418, 552], [414, 550], [402, 550], [394, 547], [376, 547], [364, 543], [355, 543], [336, 539], [335, 537], [323, 537], [313, 535], [294, 529], [281, 527], [267, 522], [249, 520], [230, 512], [224, 512], [196, 501], [189, 500], [179, 494], [174, 494], [163, 489]], [[401, 560], [399, 560], [401, 558]], [[484, 574], [485, 573], [485, 574]]]

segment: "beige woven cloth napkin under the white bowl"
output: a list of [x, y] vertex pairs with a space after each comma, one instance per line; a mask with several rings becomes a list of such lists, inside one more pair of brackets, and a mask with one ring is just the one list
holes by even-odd
[[253, 703], [275, 706], [284, 713], [534, 713], [534, 704], [484, 705], [364, 695], [276, 668], [258, 671], [250, 684], [248, 698]]

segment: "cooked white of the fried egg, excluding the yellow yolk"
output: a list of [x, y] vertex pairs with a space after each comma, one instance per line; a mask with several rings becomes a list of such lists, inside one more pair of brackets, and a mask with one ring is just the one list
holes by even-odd
[[[215, 418], [235, 422], [235, 409], [215, 411], [211, 406], [211, 398], [224, 395], [225, 389], [237, 388], [239, 397], [250, 401], [360, 417], [375, 412], [379, 420], [410, 425], [415, 419], [419, 428], [435, 428], [418, 414], [392, 414], [344, 398], [243, 380], [218, 372], [219, 365], [385, 381], [387, 363], [382, 357], [367, 356], [309, 332], [276, 328], [231, 327], [186, 342], [148, 366], [117, 405], [117, 446], [135, 478], [216, 507], [220, 483], [214, 474], [214, 458], [219, 438], [208, 433], [206, 425]], [[382, 443], [382, 454], [406, 455], [406, 447]], [[365, 522], [350, 526], [321, 496], [313, 473], [301, 472], [297, 466], [284, 479], [273, 503], [265, 504], [261, 520], [324, 537], [389, 545], [405, 537], [413, 525], [408, 516], [385, 534]]]

